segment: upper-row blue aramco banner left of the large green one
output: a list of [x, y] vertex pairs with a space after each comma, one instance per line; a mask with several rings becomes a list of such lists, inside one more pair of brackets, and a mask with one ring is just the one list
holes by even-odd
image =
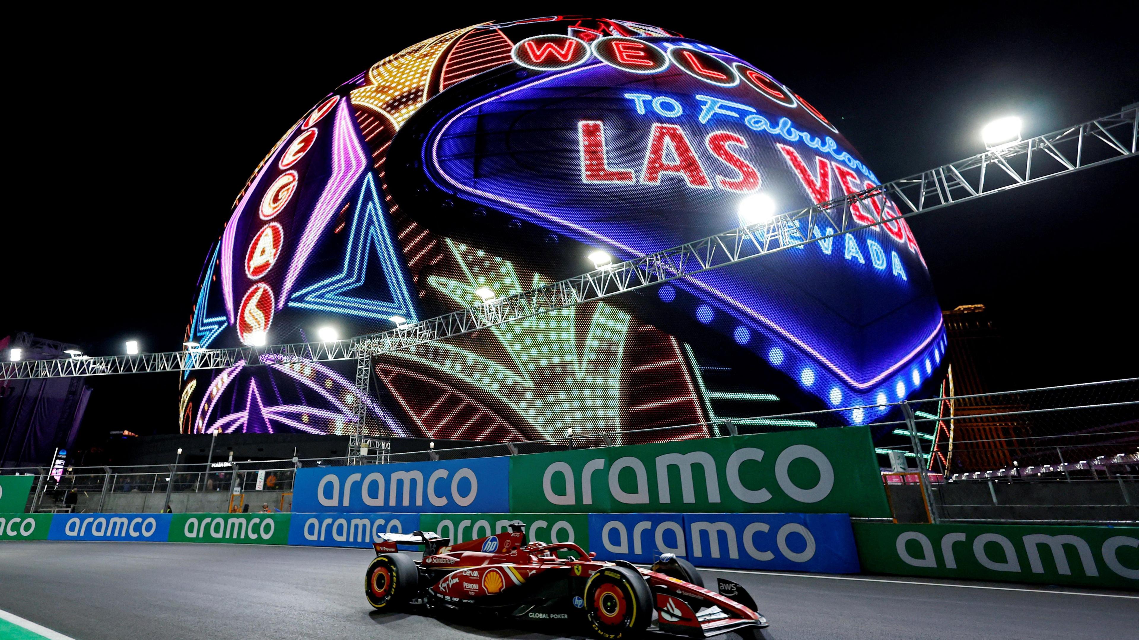
[[297, 469], [293, 509], [323, 511], [505, 512], [509, 458]]

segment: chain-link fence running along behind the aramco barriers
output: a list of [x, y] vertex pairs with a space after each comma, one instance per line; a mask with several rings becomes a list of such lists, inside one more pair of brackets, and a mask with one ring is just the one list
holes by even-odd
[[[1139, 489], [1136, 487], [1139, 479], [1139, 378], [720, 419], [631, 432], [575, 433], [568, 427], [562, 437], [551, 440], [482, 445], [433, 442], [427, 449], [408, 452], [392, 452], [393, 441], [372, 440], [368, 453], [359, 459], [69, 467], [58, 477], [48, 475], [42, 468], [2, 469], [0, 473], [36, 475], [28, 507], [39, 510], [106, 510], [116, 504], [159, 510], [172, 495], [178, 497], [175, 501], [189, 506], [213, 504], [218, 500], [191, 499], [187, 494], [240, 495], [244, 500], [247, 493], [256, 492], [264, 494], [261, 498], [285, 504], [286, 494], [293, 490], [295, 470], [302, 467], [458, 460], [844, 427], [861, 424], [861, 418], [869, 416], [876, 416], [868, 426], [875, 435], [875, 451], [885, 482], [891, 486], [900, 485], [893, 490], [898, 495], [909, 491], [903, 489], [906, 486], [920, 490], [925, 516], [929, 519], [1041, 519], [1007, 517], [1011, 512], [1009, 509], [1003, 509], [998, 518], [991, 508], [1017, 506], [1030, 511], [1051, 509], [1050, 519], [1057, 522], [1139, 519], [1129, 516], [1130, 508], [1139, 504]], [[970, 483], [975, 485], [972, 489]], [[1044, 489], [1046, 483], [1065, 485]], [[1009, 486], [1014, 484], [1015, 489]], [[1036, 489], [1027, 489], [1032, 486]], [[1076, 486], [1080, 489], [1074, 489]], [[1002, 498], [1002, 494], [1007, 495]], [[228, 507], [232, 506], [232, 500], [227, 502]], [[1125, 509], [1120, 511], [1116, 507]], [[1056, 510], [1058, 508], [1063, 509]], [[1122, 516], [1090, 517], [1097, 508], [1100, 514]], [[954, 518], [954, 514], [960, 517]], [[968, 518], [962, 514], [980, 515]]]

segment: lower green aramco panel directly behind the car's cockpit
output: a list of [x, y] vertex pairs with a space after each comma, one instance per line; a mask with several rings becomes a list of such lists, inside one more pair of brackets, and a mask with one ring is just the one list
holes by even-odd
[[585, 514], [424, 514], [421, 531], [450, 538], [452, 544], [507, 531], [510, 523], [526, 525], [533, 542], [573, 542], [589, 551], [589, 516]]

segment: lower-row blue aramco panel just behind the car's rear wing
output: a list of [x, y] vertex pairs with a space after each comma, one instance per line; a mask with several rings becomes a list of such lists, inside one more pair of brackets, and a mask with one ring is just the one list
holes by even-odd
[[[418, 528], [419, 514], [293, 514], [288, 543], [368, 549], [378, 534], [411, 533]], [[400, 548], [423, 550], [420, 547]]]

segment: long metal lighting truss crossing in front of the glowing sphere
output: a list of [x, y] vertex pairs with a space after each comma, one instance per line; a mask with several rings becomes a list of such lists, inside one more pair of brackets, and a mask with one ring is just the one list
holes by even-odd
[[[764, 254], [886, 224], [896, 218], [932, 212], [1131, 157], [1136, 155], [1137, 142], [1139, 142], [1139, 107], [1132, 105], [1109, 116], [1005, 145], [843, 198], [785, 213], [769, 222], [724, 231], [544, 287], [407, 323], [388, 331], [336, 343], [0, 362], [0, 379], [182, 371], [230, 367], [240, 360], [245, 360], [248, 364], [277, 361], [274, 358], [265, 356], [317, 361], [359, 358], [370, 362], [374, 355], [661, 285]], [[884, 206], [886, 197], [899, 205], [898, 210]], [[861, 203], [872, 203], [875, 212], [880, 211], [884, 216], [871, 223], [855, 221], [852, 213], [855, 205]], [[868, 210], [863, 207], [863, 211]], [[793, 237], [789, 230], [798, 221], [806, 221], [805, 233], [801, 232], [800, 236]], [[823, 221], [827, 227], [836, 230], [829, 235], [820, 235], [817, 228], [818, 223]], [[794, 228], [802, 229], [802, 227]], [[362, 393], [366, 393], [369, 386], [368, 377], [360, 379], [360, 370], [366, 366], [363, 362], [358, 363], [358, 381], [361, 383]], [[360, 403], [361, 411], [362, 408], [363, 403]], [[358, 416], [354, 430], [362, 425], [362, 416]]]

